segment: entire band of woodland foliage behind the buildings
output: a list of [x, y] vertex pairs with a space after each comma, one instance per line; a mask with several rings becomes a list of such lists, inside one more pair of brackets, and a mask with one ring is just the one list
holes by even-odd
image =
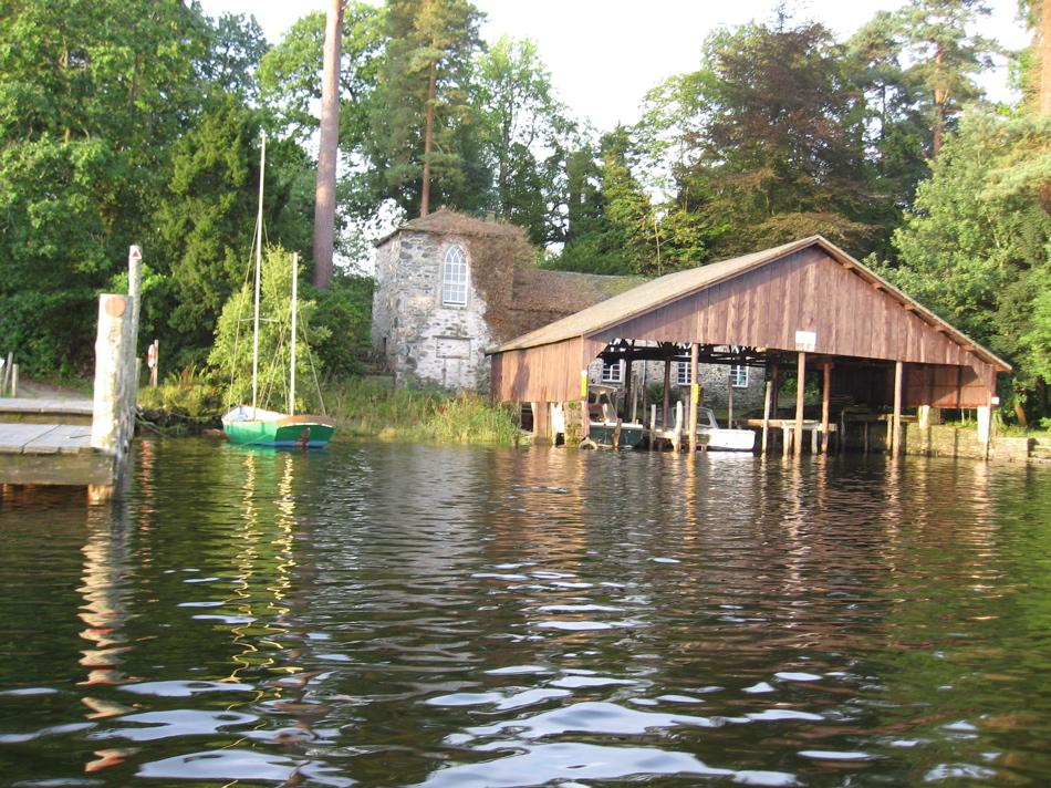
[[[415, 216], [425, 193], [585, 272], [656, 276], [820, 232], [1017, 364], [1010, 395], [1042, 415], [1049, 129], [1030, 105], [982, 106], [976, 77], [1002, 54], [986, 13], [908, 0], [841, 41], [782, 6], [716, 30], [638, 125], [599, 131], [533, 42], [481, 40], [469, 0], [351, 2], [336, 250], [361, 259], [362, 229]], [[263, 132], [267, 242], [304, 253], [310, 280], [324, 35], [319, 12], [271, 46], [253, 19], [179, 0], [0, 3], [0, 350], [27, 373], [86, 369], [96, 297], [123, 287], [137, 243], [144, 344], [204, 376], [232, 363]], [[1038, 61], [1018, 61], [1030, 94], [1048, 91]], [[371, 293], [353, 266], [303, 288], [322, 376], [363, 371]]]

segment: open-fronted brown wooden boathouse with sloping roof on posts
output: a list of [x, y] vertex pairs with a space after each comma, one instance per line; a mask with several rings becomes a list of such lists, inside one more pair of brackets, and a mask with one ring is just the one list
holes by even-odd
[[[688, 362], [691, 381], [698, 363], [743, 364], [763, 370], [773, 392], [784, 374], [805, 381], [818, 371], [819, 414], [807, 417], [797, 386], [794, 413], [777, 418], [768, 396], [761, 422], [764, 446], [772, 425], [797, 454], [808, 428], [815, 448], [825, 447], [845, 405], [864, 405], [865, 417], [886, 423], [892, 454], [901, 450], [904, 408], [922, 422], [937, 408], [974, 408], [988, 444], [997, 375], [1011, 369], [821, 236], [651, 280], [489, 355], [493, 398], [532, 403], [540, 442], [550, 438], [556, 404], [582, 414], [586, 436], [586, 367], [599, 356], [628, 369], [639, 360], [664, 360], [666, 369]], [[693, 405], [703, 404], [696, 384], [691, 394]]]

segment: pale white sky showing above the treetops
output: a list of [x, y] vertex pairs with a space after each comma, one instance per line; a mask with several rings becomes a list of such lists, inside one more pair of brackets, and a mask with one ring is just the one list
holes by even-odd
[[[379, 0], [374, 1], [379, 4]], [[532, 39], [551, 72], [559, 97], [573, 115], [587, 117], [602, 131], [638, 120], [646, 92], [673, 74], [697, 70], [708, 33], [719, 25], [768, 21], [776, 0], [475, 0], [487, 14], [481, 34]], [[880, 9], [902, 0], [798, 0], [793, 18], [823, 22], [841, 40]], [[1017, 0], [989, 0], [993, 10], [982, 34], [1018, 49], [1028, 34], [1016, 21]], [[267, 39], [278, 43], [293, 22], [310, 11], [324, 11], [327, 0], [201, 0], [205, 13], [253, 14]], [[990, 96], [1007, 100], [1003, 69], [985, 82]]]

